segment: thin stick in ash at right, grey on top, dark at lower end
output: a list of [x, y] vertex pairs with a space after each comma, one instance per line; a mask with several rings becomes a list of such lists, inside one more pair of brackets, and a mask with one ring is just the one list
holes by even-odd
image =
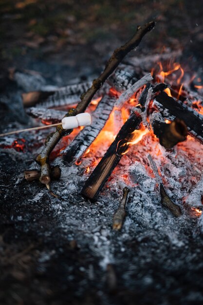
[[154, 160], [152, 159], [152, 156], [150, 155], [150, 153], [148, 154], [148, 160], [149, 163], [151, 165], [151, 169], [154, 172], [155, 178], [157, 183], [159, 184], [159, 188], [160, 188], [160, 195], [162, 198], [162, 204], [165, 208], [167, 208], [168, 210], [171, 211], [171, 213], [175, 216], [175, 217], [179, 217], [182, 215], [181, 209], [179, 206], [177, 206], [175, 203], [172, 202], [172, 200], [168, 197], [164, 185], [163, 185], [163, 181], [162, 178], [159, 175], [156, 163], [154, 162]]

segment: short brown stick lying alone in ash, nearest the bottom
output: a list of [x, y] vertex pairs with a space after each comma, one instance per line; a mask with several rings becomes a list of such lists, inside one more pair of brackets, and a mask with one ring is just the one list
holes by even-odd
[[129, 189], [125, 187], [123, 189], [123, 198], [121, 200], [121, 203], [113, 216], [113, 229], [116, 231], [122, 228], [124, 219], [126, 217], [126, 203], [127, 203], [128, 193], [129, 193]]

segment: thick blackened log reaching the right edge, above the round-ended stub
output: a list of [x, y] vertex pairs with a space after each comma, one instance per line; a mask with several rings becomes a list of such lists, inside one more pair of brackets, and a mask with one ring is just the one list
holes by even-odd
[[203, 115], [187, 107], [180, 101], [175, 101], [165, 92], [157, 95], [153, 101], [161, 114], [169, 120], [178, 118], [185, 122], [189, 133], [203, 144]]

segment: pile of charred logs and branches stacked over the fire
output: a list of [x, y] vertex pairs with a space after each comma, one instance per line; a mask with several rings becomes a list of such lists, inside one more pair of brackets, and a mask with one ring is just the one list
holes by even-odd
[[[33, 94], [34, 97], [32, 96], [31, 103], [28, 102], [27, 95], [23, 97], [27, 106], [36, 106], [43, 95], [43, 98], [45, 96], [46, 98], [45, 103], [42, 103], [41, 106], [53, 107], [55, 105], [63, 105], [67, 100], [72, 100], [73, 103], [75, 96], [77, 95], [78, 98], [78, 93], [82, 93], [81, 101], [76, 108], [71, 108], [68, 113], [38, 107], [38, 105], [28, 109], [28, 113], [34, 117], [58, 122], [61, 120], [61, 116], [72, 116], [84, 112], [96, 93], [96, 97], [103, 95], [92, 115], [92, 125], [85, 127], [64, 151], [66, 160], [70, 162], [73, 159], [78, 160], [81, 158], [92, 144], [104, 127], [113, 107], [121, 108], [123, 103], [134, 93], [140, 88], [144, 88], [139, 96], [139, 105], [131, 109], [129, 119], [122, 126], [115, 140], [111, 143], [109, 149], [82, 188], [81, 194], [91, 200], [97, 199], [111, 172], [120, 161], [122, 155], [128, 150], [133, 139], [133, 132], [141, 129], [143, 125], [153, 130], [154, 134], [159, 138], [160, 144], [166, 149], [171, 149], [177, 143], [184, 141], [188, 133], [203, 143], [203, 115], [186, 106], [184, 103], [185, 96], [179, 95], [179, 100], [177, 100], [178, 94], [173, 88], [171, 93], [174, 98], [168, 96], [164, 92], [167, 85], [164, 83], [154, 84], [150, 74], [144, 74], [141, 79], [138, 79], [130, 69], [128, 71], [117, 69], [114, 72], [122, 59], [140, 43], [144, 35], [154, 28], [154, 25], [154, 22], [149, 22], [143, 27], [138, 27], [136, 34], [125, 45], [114, 51], [106, 64], [104, 72], [93, 81], [90, 89], [87, 90], [89, 84], [84, 83], [79, 85], [78, 88], [76, 86], [68, 86], [44, 95], [38, 93], [38, 95], [34, 96]], [[102, 92], [101, 86], [106, 80], [107, 82]], [[114, 88], [113, 94], [111, 86]], [[166, 123], [166, 119], [170, 121], [170, 124]], [[50, 189], [51, 176], [54, 177], [53, 170], [51, 172], [49, 164], [50, 153], [61, 137], [71, 132], [72, 130], [65, 131], [61, 126], [58, 126], [55, 133], [48, 135], [42, 152], [37, 156], [37, 163], [41, 167], [41, 172], [35, 173], [35, 178], [39, 178], [40, 182], [45, 184], [48, 189]], [[169, 209], [174, 212], [175, 216], [179, 216], [181, 211], [167, 197], [162, 183], [160, 183], [160, 194], [163, 204], [170, 207]]]

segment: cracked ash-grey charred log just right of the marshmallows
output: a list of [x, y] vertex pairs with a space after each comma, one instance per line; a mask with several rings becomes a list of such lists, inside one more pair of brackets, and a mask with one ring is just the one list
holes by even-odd
[[107, 95], [99, 102], [92, 114], [92, 124], [83, 128], [62, 152], [65, 160], [71, 162], [73, 159], [78, 160], [83, 155], [106, 124], [115, 101], [116, 96]]

